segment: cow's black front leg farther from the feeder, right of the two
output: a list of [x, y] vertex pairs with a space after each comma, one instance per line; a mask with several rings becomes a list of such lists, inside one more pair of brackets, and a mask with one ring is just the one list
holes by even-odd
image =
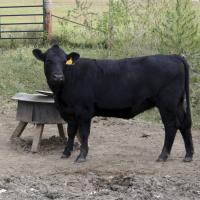
[[81, 140], [81, 148], [80, 148], [80, 154], [76, 158], [75, 162], [85, 162], [86, 156], [88, 154], [88, 137], [90, 134], [90, 124], [91, 121], [88, 122], [81, 122], [79, 124], [79, 135]]

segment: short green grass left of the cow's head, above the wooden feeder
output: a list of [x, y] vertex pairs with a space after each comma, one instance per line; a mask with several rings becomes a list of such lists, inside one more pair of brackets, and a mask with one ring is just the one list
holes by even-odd
[[0, 55], [1, 104], [17, 92], [34, 92], [45, 88], [43, 67], [31, 55], [31, 48], [4, 50]]

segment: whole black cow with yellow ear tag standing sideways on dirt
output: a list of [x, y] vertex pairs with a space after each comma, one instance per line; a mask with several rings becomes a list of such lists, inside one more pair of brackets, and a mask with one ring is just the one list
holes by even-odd
[[33, 50], [44, 62], [47, 83], [55, 103], [68, 123], [68, 142], [62, 157], [68, 158], [79, 130], [80, 154], [86, 160], [91, 120], [94, 116], [133, 118], [153, 107], [159, 109], [165, 140], [158, 161], [166, 161], [179, 129], [185, 143], [184, 161], [193, 157], [189, 102], [189, 66], [178, 55], [154, 55], [120, 60], [80, 58], [58, 45], [45, 53]]

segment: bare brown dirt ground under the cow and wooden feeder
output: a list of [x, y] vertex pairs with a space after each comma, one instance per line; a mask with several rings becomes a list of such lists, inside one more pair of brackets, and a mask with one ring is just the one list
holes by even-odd
[[164, 140], [162, 125], [139, 120], [95, 118], [87, 162], [75, 164], [75, 150], [60, 159], [64, 142], [47, 125], [40, 152], [30, 153], [33, 125], [21, 140], [9, 141], [15, 105], [0, 110], [0, 200], [186, 200], [200, 199], [200, 131], [193, 130], [195, 156], [183, 163], [177, 133], [172, 154], [157, 159]]

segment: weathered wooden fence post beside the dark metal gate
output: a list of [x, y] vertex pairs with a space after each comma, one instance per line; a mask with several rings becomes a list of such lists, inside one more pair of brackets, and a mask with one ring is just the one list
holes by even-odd
[[44, 6], [44, 31], [47, 34], [48, 41], [52, 40], [52, 13], [51, 0], [43, 0]]

